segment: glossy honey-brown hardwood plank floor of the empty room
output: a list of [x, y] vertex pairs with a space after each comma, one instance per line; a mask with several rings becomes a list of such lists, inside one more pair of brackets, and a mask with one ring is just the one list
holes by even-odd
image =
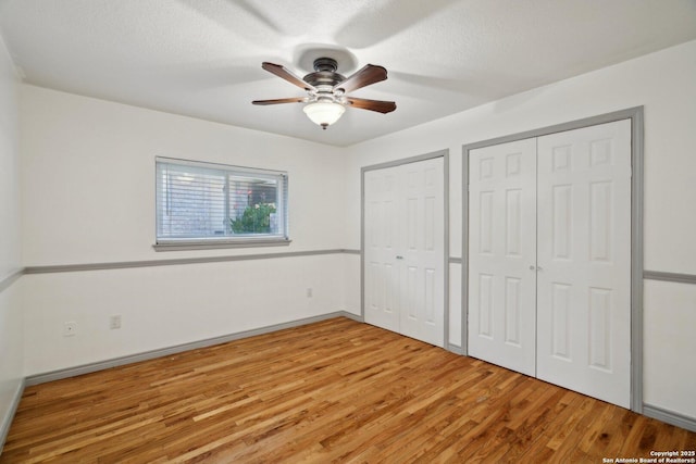
[[1, 463], [601, 463], [696, 434], [346, 318], [28, 387]]

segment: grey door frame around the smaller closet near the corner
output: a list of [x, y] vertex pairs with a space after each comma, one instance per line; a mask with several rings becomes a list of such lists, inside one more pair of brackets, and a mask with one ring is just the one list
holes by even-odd
[[443, 291], [443, 348], [449, 350], [449, 149], [433, 151], [401, 160], [388, 161], [385, 163], [372, 164], [360, 168], [360, 319], [365, 319], [365, 173], [369, 171], [397, 167], [405, 164], [418, 163], [435, 158], [443, 159], [443, 201], [444, 201], [444, 269], [443, 279], [445, 288]]

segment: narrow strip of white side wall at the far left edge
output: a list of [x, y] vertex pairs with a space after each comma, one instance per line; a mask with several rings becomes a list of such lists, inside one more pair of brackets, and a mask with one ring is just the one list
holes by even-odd
[[17, 91], [14, 66], [0, 37], [0, 430], [8, 424], [23, 377], [22, 283], [8, 286], [7, 280], [22, 265]]

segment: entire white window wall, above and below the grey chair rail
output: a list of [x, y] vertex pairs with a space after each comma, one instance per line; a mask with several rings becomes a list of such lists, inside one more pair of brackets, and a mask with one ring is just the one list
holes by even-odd
[[[26, 266], [343, 247], [337, 149], [27, 85], [20, 134]], [[156, 155], [287, 171], [293, 243], [153, 251]], [[26, 275], [25, 374], [343, 310], [344, 261], [327, 254]], [[122, 328], [111, 330], [115, 314]], [[65, 322], [77, 323], [74, 337], [63, 337]]]

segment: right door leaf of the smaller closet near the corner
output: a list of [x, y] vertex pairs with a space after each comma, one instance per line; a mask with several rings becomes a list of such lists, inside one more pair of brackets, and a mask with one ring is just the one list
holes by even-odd
[[445, 343], [445, 200], [442, 158], [401, 166], [401, 328]]

